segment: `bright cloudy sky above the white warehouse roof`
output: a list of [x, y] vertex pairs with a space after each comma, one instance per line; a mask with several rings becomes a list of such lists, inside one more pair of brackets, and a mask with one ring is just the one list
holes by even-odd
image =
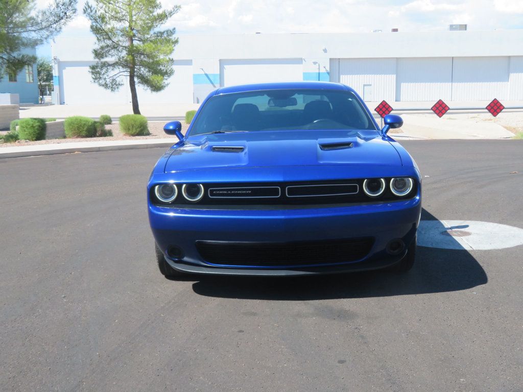
[[[93, 2], [93, 0], [91, 0]], [[50, 0], [37, 0], [39, 6]], [[468, 24], [469, 30], [523, 29], [523, 0], [160, 0], [180, 5], [166, 24], [177, 34], [350, 33], [372, 30], [447, 30]], [[60, 37], [87, 36], [89, 21], [78, 15]], [[50, 45], [37, 48], [50, 57]]]

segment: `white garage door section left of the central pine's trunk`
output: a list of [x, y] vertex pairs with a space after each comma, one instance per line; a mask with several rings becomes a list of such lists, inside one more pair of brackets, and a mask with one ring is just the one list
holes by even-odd
[[[66, 105], [78, 103], [126, 103], [127, 88], [115, 93], [91, 82], [89, 65], [92, 61], [60, 62], [60, 101]], [[127, 85], [127, 80], [124, 79]]]

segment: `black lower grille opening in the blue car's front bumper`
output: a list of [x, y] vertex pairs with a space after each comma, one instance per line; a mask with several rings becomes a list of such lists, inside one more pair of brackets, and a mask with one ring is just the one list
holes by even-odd
[[373, 243], [372, 237], [287, 243], [196, 241], [196, 248], [203, 260], [218, 266], [282, 268], [360, 260]]

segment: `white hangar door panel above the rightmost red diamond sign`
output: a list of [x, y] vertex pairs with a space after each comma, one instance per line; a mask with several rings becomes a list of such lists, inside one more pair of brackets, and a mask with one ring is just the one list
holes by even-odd
[[452, 100], [508, 99], [508, 57], [454, 57]]

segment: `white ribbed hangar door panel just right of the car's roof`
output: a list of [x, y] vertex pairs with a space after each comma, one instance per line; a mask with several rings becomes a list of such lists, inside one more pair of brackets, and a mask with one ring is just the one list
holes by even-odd
[[396, 59], [333, 59], [333, 73], [333, 82], [354, 88], [365, 101], [395, 99]]

